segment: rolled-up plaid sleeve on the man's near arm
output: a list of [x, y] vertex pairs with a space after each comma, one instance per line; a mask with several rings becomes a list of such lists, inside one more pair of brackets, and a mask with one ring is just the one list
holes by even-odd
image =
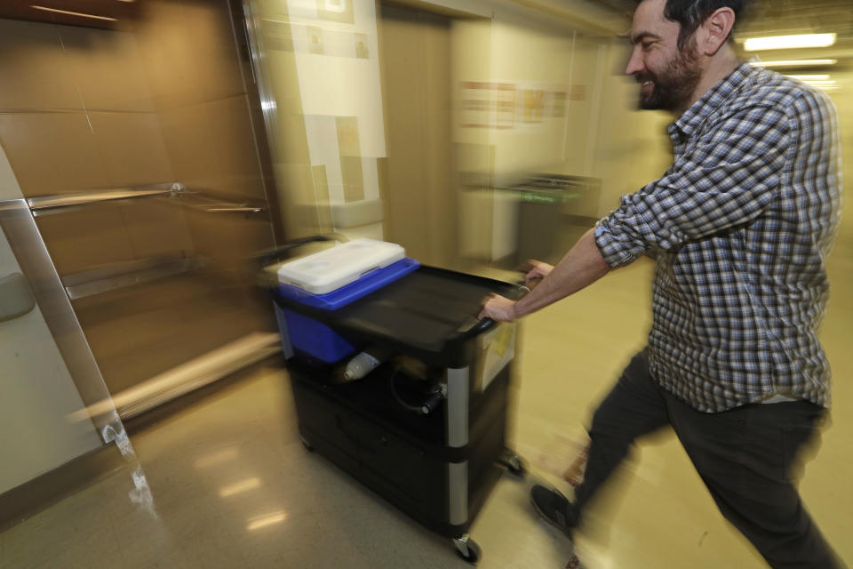
[[595, 227], [610, 268], [644, 252], [748, 224], [776, 197], [793, 137], [784, 110], [756, 105], [725, 117], [676, 156], [673, 167]]

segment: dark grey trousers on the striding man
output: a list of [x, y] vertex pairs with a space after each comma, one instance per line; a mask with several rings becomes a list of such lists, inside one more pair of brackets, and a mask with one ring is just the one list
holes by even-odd
[[637, 437], [671, 426], [722, 515], [770, 566], [844, 566], [809, 517], [794, 480], [796, 460], [819, 437], [824, 415], [806, 401], [698, 412], [658, 387], [641, 352], [594, 413], [586, 474], [575, 493], [578, 517]]

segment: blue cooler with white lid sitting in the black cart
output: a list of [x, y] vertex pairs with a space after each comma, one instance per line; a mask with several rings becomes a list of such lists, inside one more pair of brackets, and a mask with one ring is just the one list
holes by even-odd
[[[355, 239], [285, 263], [278, 269], [278, 293], [306, 306], [337, 310], [419, 268], [403, 247], [373, 239]], [[335, 364], [363, 348], [329, 326], [275, 306], [284, 354], [295, 352]]]

